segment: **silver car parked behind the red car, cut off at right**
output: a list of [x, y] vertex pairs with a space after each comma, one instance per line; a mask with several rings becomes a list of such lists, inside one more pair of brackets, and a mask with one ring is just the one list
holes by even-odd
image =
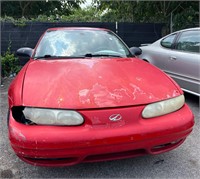
[[170, 75], [183, 91], [200, 96], [200, 28], [173, 32], [140, 47], [139, 58]]

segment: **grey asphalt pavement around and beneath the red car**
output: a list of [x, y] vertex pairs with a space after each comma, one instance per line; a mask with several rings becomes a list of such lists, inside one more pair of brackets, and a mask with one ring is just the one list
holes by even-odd
[[192, 134], [177, 149], [155, 156], [124, 160], [82, 163], [70, 167], [47, 168], [24, 163], [14, 154], [7, 130], [7, 88], [1, 86], [0, 112], [0, 178], [199, 178], [200, 177], [200, 113], [199, 98], [185, 94], [195, 116]]

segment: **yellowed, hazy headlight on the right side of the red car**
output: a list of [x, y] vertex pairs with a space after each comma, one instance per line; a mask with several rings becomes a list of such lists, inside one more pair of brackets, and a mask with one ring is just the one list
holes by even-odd
[[143, 118], [162, 116], [180, 109], [185, 103], [183, 95], [147, 105], [142, 111]]

